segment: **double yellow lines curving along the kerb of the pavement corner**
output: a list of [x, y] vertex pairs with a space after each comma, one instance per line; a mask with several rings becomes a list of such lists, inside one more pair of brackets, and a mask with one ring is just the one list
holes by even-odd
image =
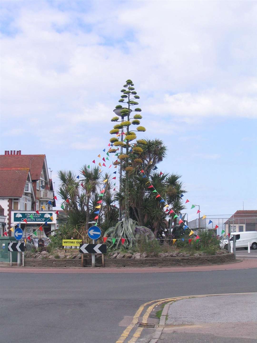
[[[152, 309], [156, 305], [161, 304], [161, 303], [165, 303], [166, 301], [170, 302], [170, 301], [177, 301], [177, 300], [187, 299], [187, 298], [200, 298], [200, 297], [218, 296], [218, 295], [255, 294], [255, 293], [257, 293], [257, 292], [188, 295], [188, 296], [184, 296], [184, 297], [174, 297], [174, 298], [166, 298], [166, 299], [164, 298], [164, 299], [159, 299], [159, 300], [148, 301], [147, 303], [141, 305], [138, 308], [138, 310], [136, 311], [136, 313], [135, 313], [135, 315], [133, 317], [133, 320], [132, 320], [131, 324], [123, 331], [123, 333], [121, 334], [120, 338], [115, 343], [123, 343], [125, 341], [125, 339], [129, 336], [131, 330], [135, 327], [135, 324], [138, 322], [138, 318], [139, 318], [140, 314], [142, 313], [144, 307], [147, 306], [147, 305], [150, 305], [152, 303], [154, 303], [154, 304], [148, 307], [148, 309], [146, 310], [145, 315], [143, 316], [143, 323], [147, 322], [147, 319], [148, 319]], [[140, 334], [142, 333], [143, 329], [144, 328], [138, 328], [136, 330], [136, 332], [133, 334], [131, 340], [128, 343], [135, 343], [136, 339], [140, 336]]]

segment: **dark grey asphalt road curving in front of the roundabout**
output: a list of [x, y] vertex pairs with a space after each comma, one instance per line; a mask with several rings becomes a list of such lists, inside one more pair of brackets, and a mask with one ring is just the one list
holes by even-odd
[[147, 274], [0, 274], [0, 341], [115, 343], [119, 322], [168, 297], [256, 292], [257, 269]]

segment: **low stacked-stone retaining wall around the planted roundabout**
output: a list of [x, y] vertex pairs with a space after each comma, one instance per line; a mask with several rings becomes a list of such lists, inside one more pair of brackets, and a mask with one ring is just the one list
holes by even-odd
[[[214, 256], [190, 257], [156, 257], [144, 259], [106, 259], [105, 267], [109, 268], [140, 268], [140, 267], [192, 267], [196, 265], [223, 264], [234, 261], [234, 254]], [[101, 257], [96, 257], [96, 267], [102, 266]], [[25, 267], [36, 268], [78, 268], [81, 267], [80, 259], [25, 259]], [[84, 267], [91, 267], [91, 259], [84, 258]]]

